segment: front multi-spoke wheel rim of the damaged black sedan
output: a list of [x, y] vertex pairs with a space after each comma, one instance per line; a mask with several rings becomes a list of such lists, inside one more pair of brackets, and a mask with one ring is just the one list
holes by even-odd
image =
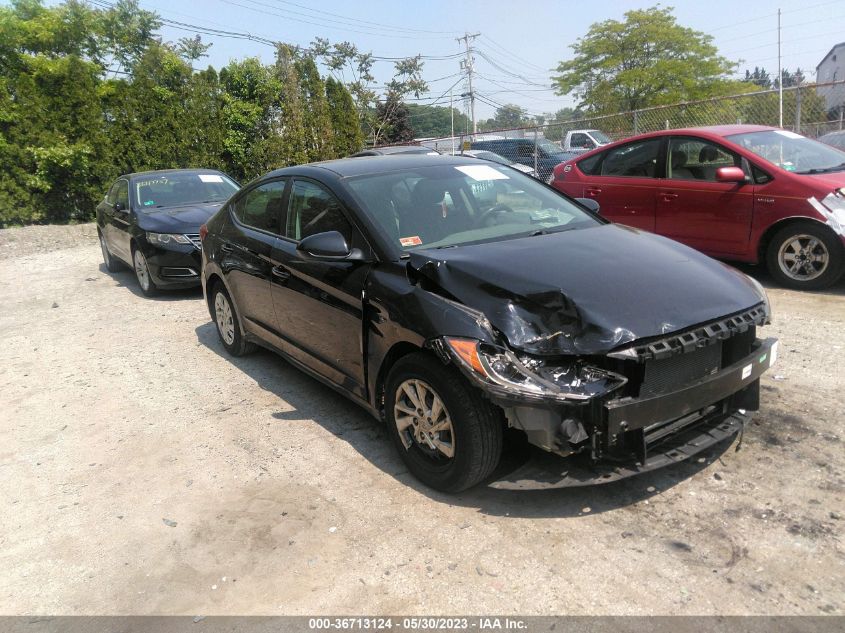
[[416, 445], [434, 460], [455, 456], [452, 418], [443, 400], [427, 382], [409, 379], [399, 385], [393, 419], [406, 449]]

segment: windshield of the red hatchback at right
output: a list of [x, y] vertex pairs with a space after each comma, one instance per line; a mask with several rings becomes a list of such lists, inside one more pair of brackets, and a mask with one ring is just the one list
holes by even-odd
[[845, 152], [787, 130], [766, 130], [727, 137], [781, 169], [796, 174], [845, 170]]

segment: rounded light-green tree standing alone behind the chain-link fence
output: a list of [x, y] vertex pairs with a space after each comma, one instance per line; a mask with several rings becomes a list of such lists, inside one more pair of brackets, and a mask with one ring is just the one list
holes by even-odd
[[678, 24], [671, 7], [634, 9], [624, 21], [593, 24], [552, 81], [558, 94], [573, 93], [591, 114], [730, 94], [736, 64], [718, 54], [712, 39]]

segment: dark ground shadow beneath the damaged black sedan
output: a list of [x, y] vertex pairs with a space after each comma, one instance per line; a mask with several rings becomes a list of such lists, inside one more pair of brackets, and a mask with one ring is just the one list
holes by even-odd
[[[502, 462], [485, 483], [459, 494], [438, 492], [420, 483], [405, 468], [383, 424], [345, 397], [287, 363], [260, 349], [243, 357], [229, 356], [212, 322], [196, 328], [199, 343], [245, 372], [262, 389], [291, 407], [273, 414], [279, 424], [313, 420], [343, 439], [367, 461], [397, 481], [437, 502], [477, 508], [479, 512], [509, 517], [577, 517], [629, 506], [659, 495], [718, 461], [731, 445], [727, 440], [691, 460], [639, 476], [593, 486], [547, 490], [501, 490], [490, 487], [497, 479], [521, 466], [531, 451], [517, 442], [506, 450]], [[305, 455], [303, 454], [303, 457]]]

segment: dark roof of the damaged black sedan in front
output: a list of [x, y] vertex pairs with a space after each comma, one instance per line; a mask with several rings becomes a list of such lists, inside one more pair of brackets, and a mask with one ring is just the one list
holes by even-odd
[[307, 176], [310, 172], [316, 175], [318, 172], [329, 172], [341, 178], [353, 176], [365, 176], [370, 174], [384, 174], [396, 171], [417, 169], [419, 167], [434, 167], [437, 165], [477, 165], [478, 159], [460, 156], [428, 154], [398, 154], [392, 156], [358, 156], [356, 158], [341, 158], [338, 160], [327, 160], [319, 163], [307, 163], [293, 167], [283, 167], [271, 171], [262, 177], [275, 178], [278, 176], [302, 175]]

